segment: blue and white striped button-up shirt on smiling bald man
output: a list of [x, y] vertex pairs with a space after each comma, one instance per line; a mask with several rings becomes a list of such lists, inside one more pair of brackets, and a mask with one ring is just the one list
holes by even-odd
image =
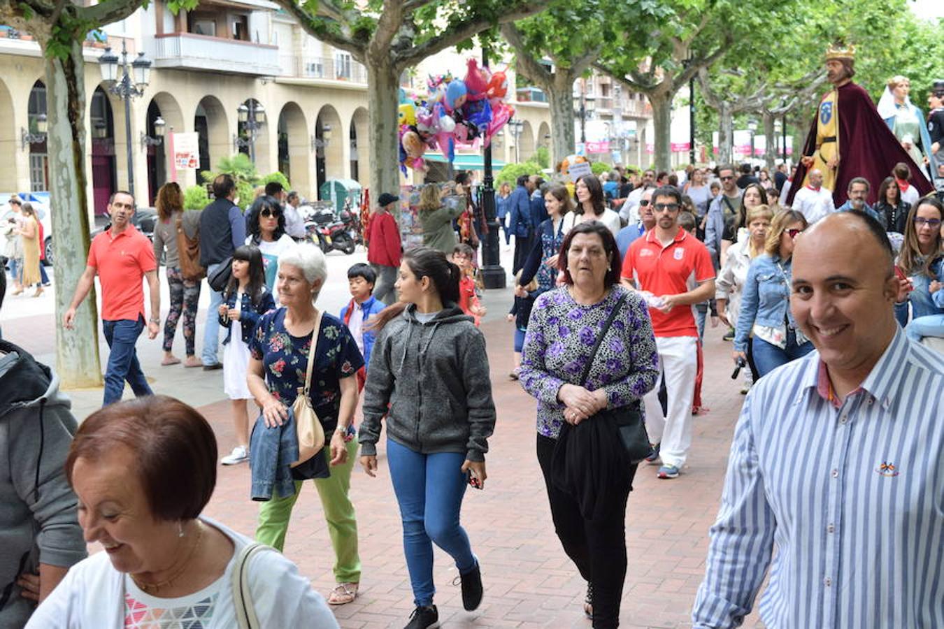
[[812, 352], [762, 378], [734, 433], [695, 627], [944, 627], [944, 356], [898, 330], [839, 406]]

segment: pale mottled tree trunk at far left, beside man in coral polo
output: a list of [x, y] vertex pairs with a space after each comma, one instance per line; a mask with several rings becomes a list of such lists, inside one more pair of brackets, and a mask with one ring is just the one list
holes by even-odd
[[56, 371], [63, 389], [102, 386], [98, 357], [98, 308], [94, 288], [76, 311], [75, 329], [59, 324], [69, 308], [89, 251], [85, 173], [85, 62], [81, 42], [68, 58], [46, 58], [49, 117], [49, 199], [56, 231]]

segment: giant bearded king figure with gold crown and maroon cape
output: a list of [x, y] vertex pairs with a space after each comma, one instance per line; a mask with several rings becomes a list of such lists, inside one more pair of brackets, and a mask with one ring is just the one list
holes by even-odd
[[[854, 62], [851, 46], [833, 46], [826, 51], [826, 78], [833, 90], [819, 103], [803, 147], [799, 179], [794, 180], [786, 197], [787, 206], [793, 204], [797, 191], [810, 183], [808, 175], [813, 170], [822, 173], [822, 187], [833, 190], [834, 206], [839, 207], [846, 202], [852, 177], [865, 177], [871, 190], [877, 190], [896, 163], [911, 158], [906, 158], [907, 152], [882, 120], [868, 92], [852, 83]], [[933, 190], [923, 174], [915, 174], [914, 185], [921, 196]], [[868, 203], [875, 201], [875, 193], [870, 191]]]

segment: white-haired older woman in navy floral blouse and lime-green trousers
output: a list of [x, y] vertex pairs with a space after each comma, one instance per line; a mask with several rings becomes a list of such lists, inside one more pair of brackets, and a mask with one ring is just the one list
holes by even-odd
[[[346, 604], [357, 596], [361, 581], [357, 520], [348, 489], [357, 454], [353, 421], [358, 387], [354, 375], [361, 369], [363, 357], [346, 325], [314, 306], [327, 274], [324, 254], [312, 245], [296, 246], [279, 257], [276, 293], [281, 307], [266, 313], [256, 327], [249, 343], [252, 356], [247, 380], [262, 409], [257, 430], [260, 422], [268, 427], [281, 425], [288, 419], [288, 409], [298, 390], [305, 386], [314, 341], [310, 398], [325, 435], [329, 436], [329, 446], [314, 459], [329, 475], [305, 475], [299, 472], [303, 467], [299, 466], [293, 470], [294, 483], [288, 482], [287, 487], [276, 483], [268, 500], [257, 498], [254, 488], [253, 497], [265, 501], [259, 510], [256, 539], [280, 551], [301, 480], [314, 476], [335, 554], [334, 577], [338, 585], [329, 594], [328, 602]], [[323, 461], [316, 460], [320, 456], [325, 457]]]

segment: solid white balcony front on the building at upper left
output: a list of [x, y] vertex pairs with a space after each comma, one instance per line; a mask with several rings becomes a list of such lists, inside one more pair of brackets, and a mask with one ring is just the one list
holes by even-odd
[[215, 70], [233, 74], [276, 75], [278, 46], [227, 40], [194, 33], [155, 35], [151, 53], [156, 68]]

